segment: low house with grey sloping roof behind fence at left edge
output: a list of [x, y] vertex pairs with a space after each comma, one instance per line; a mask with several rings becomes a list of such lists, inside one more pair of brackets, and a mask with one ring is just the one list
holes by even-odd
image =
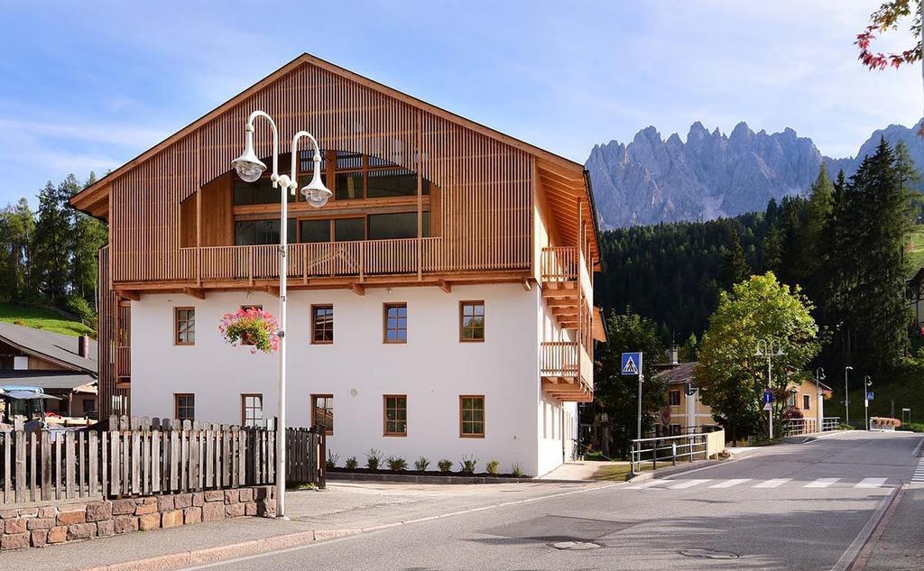
[[96, 342], [0, 322], [0, 386], [37, 386], [45, 410], [62, 417], [96, 418]]

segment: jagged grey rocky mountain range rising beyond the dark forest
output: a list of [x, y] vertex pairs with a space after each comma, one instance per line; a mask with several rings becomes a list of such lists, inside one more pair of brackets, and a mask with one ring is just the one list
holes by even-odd
[[856, 157], [833, 159], [796, 131], [754, 132], [745, 122], [729, 135], [709, 131], [699, 121], [687, 140], [676, 133], [664, 140], [644, 128], [628, 144], [595, 145], [585, 164], [590, 171], [600, 227], [710, 220], [762, 211], [768, 200], [805, 191], [824, 163], [832, 176], [847, 176], [881, 138], [905, 141], [918, 171], [924, 172], [924, 139], [917, 126], [890, 125], [875, 131]]

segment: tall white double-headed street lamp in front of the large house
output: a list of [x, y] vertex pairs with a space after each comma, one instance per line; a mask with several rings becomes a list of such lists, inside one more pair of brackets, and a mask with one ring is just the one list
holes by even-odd
[[[273, 173], [270, 180], [273, 188], [280, 188], [279, 216], [279, 421], [276, 425], [276, 516], [286, 515], [286, 277], [288, 261], [288, 195], [295, 195], [298, 188], [298, 141], [308, 139], [314, 151], [314, 170], [311, 181], [301, 189], [305, 200], [314, 208], [327, 203], [333, 193], [321, 181], [321, 149], [318, 141], [308, 131], [298, 131], [292, 138], [292, 174], [279, 174], [279, 131], [273, 117], [262, 111], [254, 111], [247, 118], [244, 128], [244, 152], [231, 162], [244, 182], [255, 182], [266, 170], [266, 164], [257, 157], [253, 148], [253, 123], [258, 117], [266, 119], [273, 129]], [[323, 460], [322, 460], [323, 461]]]

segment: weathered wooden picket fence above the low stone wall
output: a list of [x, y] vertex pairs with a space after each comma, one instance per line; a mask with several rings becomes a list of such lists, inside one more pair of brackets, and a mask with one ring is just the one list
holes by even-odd
[[[273, 427], [113, 416], [103, 431], [0, 429], [0, 504], [273, 484]], [[323, 435], [286, 432], [290, 479], [323, 486]]]

